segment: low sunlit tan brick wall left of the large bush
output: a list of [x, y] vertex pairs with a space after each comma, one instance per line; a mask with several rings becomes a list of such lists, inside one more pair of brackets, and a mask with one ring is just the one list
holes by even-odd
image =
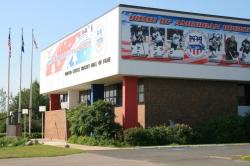
[[65, 110], [46, 111], [44, 138], [49, 140], [65, 140]]

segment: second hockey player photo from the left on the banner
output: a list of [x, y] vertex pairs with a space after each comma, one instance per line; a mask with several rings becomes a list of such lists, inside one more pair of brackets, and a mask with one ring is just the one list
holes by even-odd
[[163, 57], [165, 53], [165, 29], [150, 27], [151, 46], [150, 53], [152, 57]]

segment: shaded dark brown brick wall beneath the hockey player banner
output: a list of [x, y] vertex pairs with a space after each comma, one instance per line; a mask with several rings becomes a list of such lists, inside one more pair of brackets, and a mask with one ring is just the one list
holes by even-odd
[[146, 127], [237, 114], [236, 82], [145, 78], [144, 84]]

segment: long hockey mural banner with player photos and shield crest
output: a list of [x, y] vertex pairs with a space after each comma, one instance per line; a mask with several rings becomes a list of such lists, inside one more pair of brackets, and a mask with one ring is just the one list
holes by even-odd
[[250, 67], [250, 25], [122, 12], [126, 60]]

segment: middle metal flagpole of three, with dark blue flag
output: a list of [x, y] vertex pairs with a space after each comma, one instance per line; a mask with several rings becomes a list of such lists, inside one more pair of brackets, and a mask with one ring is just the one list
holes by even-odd
[[21, 123], [21, 112], [22, 112], [22, 56], [23, 56], [23, 28], [22, 28], [22, 46], [21, 46], [21, 54], [20, 54], [20, 84], [19, 84], [19, 103], [18, 103], [18, 123]]

